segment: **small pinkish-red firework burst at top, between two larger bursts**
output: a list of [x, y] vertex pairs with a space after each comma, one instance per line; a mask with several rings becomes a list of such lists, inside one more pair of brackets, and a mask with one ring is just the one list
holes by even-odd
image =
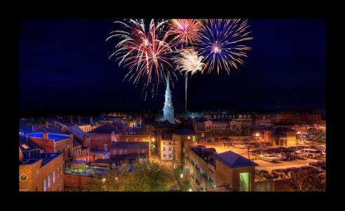
[[200, 38], [201, 22], [196, 19], [172, 19], [170, 21], [169, 34], [174, 36], [172, 41], [182, 43], [187, 46], [188, 43], [196, 43]]

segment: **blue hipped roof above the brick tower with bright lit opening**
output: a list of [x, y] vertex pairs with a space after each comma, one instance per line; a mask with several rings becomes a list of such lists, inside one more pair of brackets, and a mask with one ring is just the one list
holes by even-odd
[[228, 166], [229, 168], [257, 166], [257, 163], [254, 163], [253, 161], [250, 161], [250, 159], [234, 153], [234, 151], [226, 151], [221, 154], [215, 154], [213, 155], [213, 158], [224, 163], [224, 165]]

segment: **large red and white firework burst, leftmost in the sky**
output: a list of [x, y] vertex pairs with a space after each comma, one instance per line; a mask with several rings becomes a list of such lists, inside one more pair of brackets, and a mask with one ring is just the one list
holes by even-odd
[[[106, 41], [113, 37], [119, 39], [115, 46], [116, 50], [109, 59], [116, 56], [119, 66], [128, 68], [128, 74], [123, 80], [129, 77], [128, 81], [133, 80], [137, 85], [143, 79], [145, 100], [151, 84], [153, 97], [159, 83], [166, 78], [163, 69], [167, 72], [172, 69], [170, 54], [173, 53], [173, 45], [167, 40], [168, 33], [165, 30], [168, 20], [152, 19], [148, 27], [144, 19], [128, 19], [115, 23], [123, 26], [124, 29], [110, 32], [111, 35], [106, 39]], [[172, 75], [175, 76], [173, 72]]]

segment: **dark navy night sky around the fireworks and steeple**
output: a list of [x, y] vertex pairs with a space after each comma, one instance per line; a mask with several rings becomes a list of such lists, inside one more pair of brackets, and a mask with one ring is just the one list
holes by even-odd
[[[123, 81], [114, 59], [114, 20], [22, 20], [20, 109], [161, 109], [158, 95]], [[249, 20], [252, 50], [228, 76], [221, 71], [189, 79], [191, 109], [325, 108], [325, 20]], [[184, 77], [172, 91], [184, 109]]]

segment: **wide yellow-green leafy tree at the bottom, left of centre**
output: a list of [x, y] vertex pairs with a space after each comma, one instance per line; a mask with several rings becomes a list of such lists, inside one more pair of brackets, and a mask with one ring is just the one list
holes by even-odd
[[161, 163], [123, 161], [105, 175], [95, 175], [88, 191], [167, 191], [168, 181], [168, 169]]

